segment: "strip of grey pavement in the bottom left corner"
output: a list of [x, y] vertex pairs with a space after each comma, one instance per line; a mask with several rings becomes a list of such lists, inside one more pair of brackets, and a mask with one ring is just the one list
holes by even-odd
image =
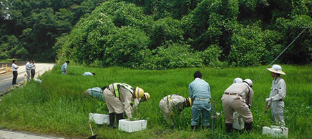
[[33, 135], [30, 133], [21, 133], [17, 131], [0, 130], [0, 139], [64, 139], [64, 138]]

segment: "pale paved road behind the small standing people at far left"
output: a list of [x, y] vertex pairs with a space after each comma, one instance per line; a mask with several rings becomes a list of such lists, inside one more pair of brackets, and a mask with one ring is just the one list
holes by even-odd
[[[54, 64], [51, 63], [35, 63], [36, 65], [36, 74], [35, 77], [38, 76], [38, 72], [42, 75], [44, 72], [49, 70], [49, 67], [52, 69]], [[25, 65], [19, 66], [17, 83], [24, 81], [24, 74], [26, 74]], [[0, 92], [8, 90], [12, 86], [13, 74], [12, 72], [6, 74], [0, 74]]]

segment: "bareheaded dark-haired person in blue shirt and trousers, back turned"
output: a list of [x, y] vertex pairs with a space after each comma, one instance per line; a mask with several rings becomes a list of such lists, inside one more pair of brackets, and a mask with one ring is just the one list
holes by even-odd
[[189, 95], [193, 101], [191, 128], [198, 129], [198, 120], [202, 113], [202, 127], [209, 128], [209, 117], [211, 111], [211, 94], [209, 84], [202, 79], [199, 71], [194, 74], [194, 81], [189, 83]]

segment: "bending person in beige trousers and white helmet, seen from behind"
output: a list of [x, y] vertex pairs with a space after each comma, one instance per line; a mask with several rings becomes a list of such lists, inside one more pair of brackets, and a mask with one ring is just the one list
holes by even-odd
[[225, 111], [227, 133], [233, 129], [233, 113], [235, 111], [243, 117], [246, 131], [252, 131], [253, 117], [250, 107], [252, 106], [253, 96], [254, 90], [252, 90], [252, 81], [250, 79], [245, 79], [243, 83], [233, 83], [225, 90], [221, 99], [223, 111]]

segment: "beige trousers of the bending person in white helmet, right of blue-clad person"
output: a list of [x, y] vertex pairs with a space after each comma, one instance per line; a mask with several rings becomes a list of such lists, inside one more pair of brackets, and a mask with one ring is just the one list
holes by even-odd
[[[222, 96], [223, 110], [225, 109], [225, 123], [232, 124], [234, 122], [233, 113], [236, 111], [243, 117], [244, 122], [252, 122], [252, 113], [245, 104], [245, 100], [242, 97], [236, 95], [223, 95]], [[231, 104], [231, 105], [230, 105]], [[230, 105], [230, 106], [229, 106]], [[229, 106], [229, 107], [227, 107]]]

